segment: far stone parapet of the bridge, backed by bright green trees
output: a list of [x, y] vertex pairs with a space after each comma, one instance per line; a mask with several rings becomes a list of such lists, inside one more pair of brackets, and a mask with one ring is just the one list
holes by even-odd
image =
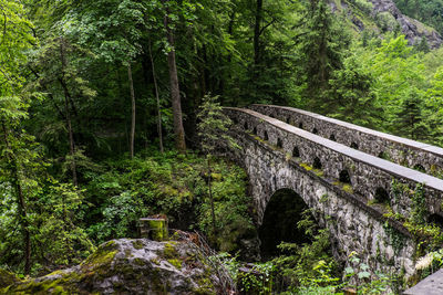
[[442, 148], [293, 107], [251, 105], [249, 108], [379, 158], [443, 177]]

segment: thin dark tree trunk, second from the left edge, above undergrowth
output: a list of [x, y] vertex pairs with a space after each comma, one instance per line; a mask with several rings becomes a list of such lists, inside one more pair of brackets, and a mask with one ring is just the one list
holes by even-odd
[[71, 171], [72, 171], [72, 183], [76, 187], [79, 186], [78, 177], [76, 177], [76, 161], [75, 161], [75, 143], [74, 143], [74, 135], [72, 131], [72, 120], [71, 120], [71, 110], [69, 107], [70, 104], [70, 93], [68, 89], [68, 85], [65, 83], [65, 69], [66, 69], [66, 55], [65, 55], [65, 44], [64, 40], [60, 38], [60, 59], [62, 62], [62, 75], [59, 80], [60, 84], [62, 85], [64, 92], [64, 113], [66, 118], [66, 126], [68, 126], [68, 136], [69, 136], [69, 145], [70, 145], [70, 156], [71, 156]]

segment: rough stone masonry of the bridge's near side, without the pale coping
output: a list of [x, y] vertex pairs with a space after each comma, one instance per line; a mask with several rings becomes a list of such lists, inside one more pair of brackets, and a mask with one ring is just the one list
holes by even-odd
[[[285, 134], [285, 130], [272, 126], [267, 119], [236, 109], [229, 109], [227, 113], [237, 120], [233, 135], [243, 149], [233, 152], [249, 176], [259, 224], [271, 196], [279, 189], [291, 189], [313, 209], [317, 221], [329, 229], [337, 259], [347, 261], [354, 251], [373, 271], [398, 274], [403, 270], [406, 277], [413, 275], [415, 244], [408, 233], [402, 232], [398, 224], [387, 221], [382, 213], [368, 207], [364, 198], [334, 186], [324, 177], [333, 177], [337, 170], [354, 165], [358, 172], [352, 179], [358, 182], [358, 173], [362, 173], [360, 170], [363, 169], [363, 165], [323, 147], [317, 147], [316, 144], [308, 144], [308, 140], [301, 137]], [[245, 123], [248, 130], [257, 127], [260, 137], [266, 130], [269, 140], [260, 140], [254, 133], [245, 131]], [[282, 148], [272, 146], [277, 144], [277, 138], [285, 139]], [[300, 148], [299, 159], [288, 155], [293, 145]], [[307, 170], [300, 165], [302, 161], [310, 162], [313, 157], [321, 158], [324, 176]], [[342, 164], [339, 165], [338, 161]], [[370, 172], [377, 173], [375, 179], [380, 181], [377, 186], [383, 185], [382, 180], [390, 177], [377, 170]], [[398, 242], [399, 236], [401, 243]]]

